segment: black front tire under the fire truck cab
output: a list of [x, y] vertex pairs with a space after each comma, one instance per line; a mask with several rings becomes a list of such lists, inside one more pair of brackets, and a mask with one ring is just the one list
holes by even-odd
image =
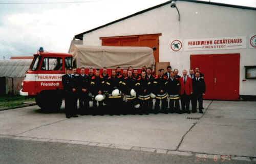
[[59, 112], [62, 104], [62, 97], [56, 91], [42, 91], [35, 100], [44, 112]]

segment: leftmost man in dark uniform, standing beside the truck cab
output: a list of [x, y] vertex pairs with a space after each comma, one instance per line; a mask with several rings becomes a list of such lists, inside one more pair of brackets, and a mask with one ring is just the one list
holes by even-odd
[[70, 119], [71, 116], [77, 117], [74, 111], [74, 95], [76, 89], [74, 87], [74, 81], [72, 78], [72, 68], [68, 68], [67, 74], [62, 76], [62, 85], [64, 88], [65, 94], [65, 113], [66, 118]]

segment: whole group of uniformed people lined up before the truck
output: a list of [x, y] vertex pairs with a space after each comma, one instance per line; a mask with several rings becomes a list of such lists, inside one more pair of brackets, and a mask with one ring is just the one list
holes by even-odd
[[[167, 66], [166, 73], [164, 69], [159, 69], [156, 76], [152, 74], [152, 68], [146, 66], [142, 67], [140, 74], [132, 66], [123, 69], [122, 73], [120, 67], [112, 69], [111, 75], [108, 75], [107, 71], [106, 67], [103, 67], [100, 74], [99, 69], [95, 69], [94, 73], [93, 68], [89, 68], [89, 74], [86, 75], [85, 68], [80, 68], [78, 75], [76, 68], [68, 68], [67, 74], [62, 76], [67, 118], [77, 117], [77, 114], [89, 114], [92, 111], [93, 115], [190, 113], [190, 101], [191, 112], [197, 112], [198, 102], [199, 112], [203, 113], [205, 82], [199, 67], [195, 68], [195, 74], [194, 69], [190, 69], [188, 75], [187, 71], [183, 70], [182, 77], [178, 75], [178, 69], [172, 71], [171, 66]], [[91, 108], [90, 101], [93, 102]]]

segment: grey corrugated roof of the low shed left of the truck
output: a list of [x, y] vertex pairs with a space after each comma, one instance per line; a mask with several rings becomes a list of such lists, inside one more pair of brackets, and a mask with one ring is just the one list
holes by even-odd
[[28, 71], [31, 60], [0, 60], [0, 77], [20, 78]]

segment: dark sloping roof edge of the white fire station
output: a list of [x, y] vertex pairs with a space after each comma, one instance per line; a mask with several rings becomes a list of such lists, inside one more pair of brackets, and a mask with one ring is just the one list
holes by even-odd
[[[254, 7], [245, 7], [245, 6], [238, 6], [238, 5], [221, 4], [221, 3], [215, 3], [215, 2], [205, 2], [205, 1], [196, 1], [196, 0], [178, 0], [178, 1], [192, 2], [192, 3], [200, 3], [200, 4], [209, 4], [209, 5], [217, 5], [217, 6], [225, 6], [225, 7], [239, 8], [239, 9], [256, 10], [256, 8], [254, 8]], [[115, 24], [116, 22], [119, 22], [119, 21], [128, 19], [128, 18], [130, 18], [130, 17], [133, 17], [133, 16], [136, 16], [136, 15], [142, 14], [142, 13], [144, 13], [144, 12], [147, 12], [147, 11], [150, 11], [150, 10], [153, 10], [153, 9], [156, 9], [156, 8], [159, 8], [159, 7], [161, 7], [161, 6], [164, 6], [164, 5], [167, 5], [167, 4], [170, 4], [170, 3], [172, 3], [172, 1], [167, 1], [167, 2], [162, 3], [162, 4], [159, 4], [159, 5], [157, 5], [157, 6], [154, 6], [154, 7], [151, 7], [151, 8], [142, 10], [142, 11], [139, 11], [139, 12], [137, 12], [137, 13], [134, 13], [134, 14], [132, 14], [132, 15], [129, 15], [129, 16], [126, 16], [126, 17], [123, 17], [123, 18], [120, 18], [120, 19], [117, 19], [117, 20], [115, 20], [115, 21], [109, 22], [108, 24], [105, 24], [105, 25], [99, 26], [99, 27], [97, 27], [97, 28], [91, 29], [91, 30], [89, 30], [89, 31], [86, 31], [86, 32], [77, 34], [77, 35], [75, 35], [75, 38], [82, 40], [84, 34], [87, 34], [87, 33], [90, 33], [90, 32], [92, 32], [92, 31], [101, 29], [101, 28], [103, 28], [103, 27], [106, 27], [106, 26]]]

